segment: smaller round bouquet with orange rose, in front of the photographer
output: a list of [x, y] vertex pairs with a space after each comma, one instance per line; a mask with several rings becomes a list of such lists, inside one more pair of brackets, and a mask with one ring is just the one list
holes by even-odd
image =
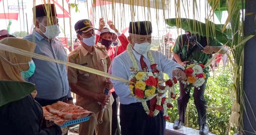
[[200, 86], [204, 84], [206, 72], [207, 69], [203, 64], [199, 64], [197, 61], [194, 61], [192, 64], [185, 66], [187, 81], [182, 81], [182, 83], [185, 84], [185, 88], [187, 90], [192, 87], [200, 89]]

